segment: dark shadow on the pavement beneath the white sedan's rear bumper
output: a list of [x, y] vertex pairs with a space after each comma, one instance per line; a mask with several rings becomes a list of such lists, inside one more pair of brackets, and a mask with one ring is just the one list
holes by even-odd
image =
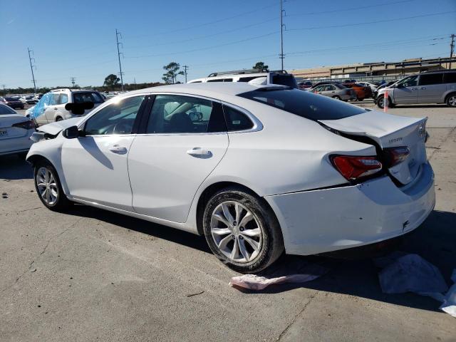
[[[451, 229], [454, 222], [456, 222], [456, 213], [434, 211], [418, 229], [400, 239], [400, 244], [395, 248], [419, 254], [437, 266], [447, 284], [451, 286], [450, 276], [452, 269], [456, 268], [456, 230]], [[430, 297], [412, 293], [383, 294], [378, 282], [380, 269], [376, 268], [371, 257], [366, 255], [360, 254], [358, 259], [353, 260], [353, 250], [347, 253], [351, 260], [343, 259], [344, 252], [338, 253], [337, 259], [328, 256], [284, 256], [269, 271], [261, 274], [270, 277], [295, 274], [299, 273], [300, 269], [305, 270], [306, 264], [318, 264], [329, 269], [328, 273], [314, 281], [304, 284], [272, 285], [263, 291], [237, 289], [249, 294], [275, 294], [303, 287], [440, 312], [438, 310], [440, 303]], [[388, 254], [388, 251], [384, 254]]]

